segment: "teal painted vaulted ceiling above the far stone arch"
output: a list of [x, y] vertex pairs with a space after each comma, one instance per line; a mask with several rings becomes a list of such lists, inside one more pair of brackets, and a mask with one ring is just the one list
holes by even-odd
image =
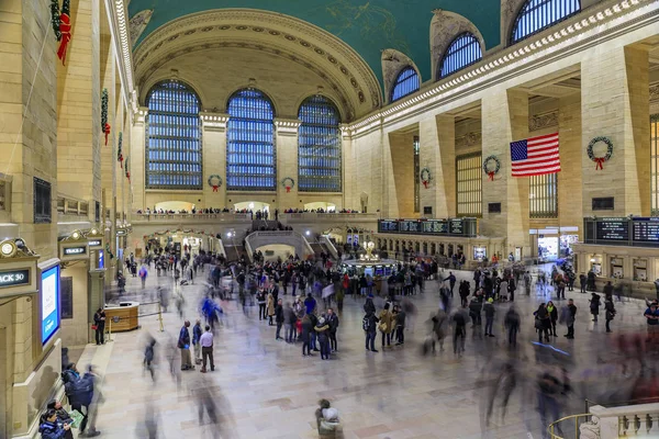
[[290, 15], [327, 31], [356, 50], [382, 81], [381, 50], [394, 48], [431, 78], [429, 25], [433, 11], [470, 20], [485, 48], [500, 43], [501, 0], [132, 0], [135, 47], [158, 27], [191, 13], [224, 8], [258, 9]]

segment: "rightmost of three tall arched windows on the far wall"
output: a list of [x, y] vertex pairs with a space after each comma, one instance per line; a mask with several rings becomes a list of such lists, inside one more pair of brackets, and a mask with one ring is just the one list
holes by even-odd
[[338, 110], [327, 98], [306, 98], [298, 113], [298, 190], [340, 192], [342, 160]]

